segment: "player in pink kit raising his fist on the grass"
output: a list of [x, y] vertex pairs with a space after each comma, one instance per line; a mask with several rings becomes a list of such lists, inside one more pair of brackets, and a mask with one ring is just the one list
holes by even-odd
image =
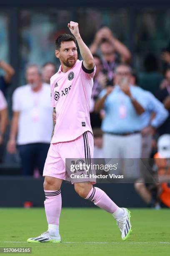
[[[65, 159], [83, 158], [88, 161], [93, 157], [89, 108], [95, 65], [90, 50], [80, 37], [78, 23], [70, 21], [68, 28], [73, 36], [62, 34], [55, 41], [55, 56], [60, 59], [61, 66], [50, 79], [56, 124], [43, 172], [48, 230], [40, 236], [28, 238], [30, 243], [61, 242], [60, 187], [62, 181], [69, 178], [66, 177]], [[83, 61], [77, 59], [76, 41]], [[122, 240], [126, 240], [131, 232], [129, 210], [118, 207], [104, 191], [93, 187], [94, 179], [87, 178], [83, 182], [72, 183], [80, 197], [92, 201], [113, 215], [120, 228]]]

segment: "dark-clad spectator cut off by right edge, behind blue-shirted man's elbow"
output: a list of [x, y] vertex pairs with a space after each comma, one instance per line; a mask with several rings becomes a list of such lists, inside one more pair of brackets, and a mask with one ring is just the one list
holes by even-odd
[[[156, 97], [158, 100], [160, 100], [160, 102], [163, 102], [165, 108], [170, 113], [170, 68], [165, 71], [165, 79], [168, 81], [168, 83], [166, 84], [165, 88], [158, 90]], [[170, 115], [166, 121], [158, 128], [158, 133], [159, 135], [163, 135], [165, 133], [170, 134]]]

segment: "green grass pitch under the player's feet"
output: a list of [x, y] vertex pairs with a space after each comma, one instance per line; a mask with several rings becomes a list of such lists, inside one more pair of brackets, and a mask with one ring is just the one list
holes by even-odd
[[63, 208], [60, 216], [62, 243], [32, 244], [26, 243], [27, 238], [47, 230], [44, 209], [0, 208], [0, 247], [31, 247], [32, 255], [46, 256], [169, 256], [170, 211], [131, 209], [131, 216], [133, 232], [123, 242], [109, 213], [98, 208]]

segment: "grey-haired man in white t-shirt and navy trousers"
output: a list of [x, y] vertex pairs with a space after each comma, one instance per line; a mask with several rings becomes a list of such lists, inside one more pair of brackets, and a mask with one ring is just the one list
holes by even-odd
[[13, 93], [13, 118], [7, 151], [15, 153], [17, 143], [23, 174], [32, 175], [35, 167], [42, 174], [52, 133], [50, 86], [42, 83], [36, 65], [26, 69], [26, 80], [28, 84], [18, 87]]

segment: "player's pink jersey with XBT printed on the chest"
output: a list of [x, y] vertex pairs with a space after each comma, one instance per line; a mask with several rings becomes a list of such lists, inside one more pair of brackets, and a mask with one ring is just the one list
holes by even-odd
[[85, 131], [92, 132], [89, 109], [95, 68], [88, 71], [77, 60], [66, 73], [61, 69], [50, 79], [51, 103], [56, 110], [51, 143], [72, 141]]

